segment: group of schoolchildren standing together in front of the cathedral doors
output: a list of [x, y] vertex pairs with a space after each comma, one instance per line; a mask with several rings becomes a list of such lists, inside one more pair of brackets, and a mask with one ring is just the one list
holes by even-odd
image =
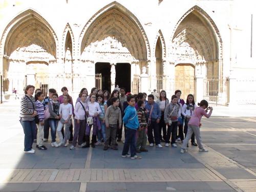
[[[158, 99], [151, 94], [147, 96], [148, 100], [146, 100], [145, 93], [137, 95], [127, 93], [125, 95], [124, 88], [114, 90], [111, 95], [108, 91], [97, 88], [93, 88], [91, 94], [88, 94], [87, 89], [83, 88], [74, 107], [68, 89], [63, 87], [61, 91], [63, 95], [58, 97], [56, 90], [50, 89], [49, 96], [46, 98], [39, 89], [35, 92], [36, 106], [33, 105], [33, 110], [36, 113], [33, 117], [35, 117], [37, 126], [36, 147], [39, 150], [47, 150], [43, 141], [48, 140], [48, 136], [46, 137], [44, 134], [47, 132], [49, 134], [49, 128], [51, 129], [52, 147], [67, 147], [71, 143], [70, 150], [74, 150], [76, 146], [86, 148], [103, 143], [103, 150], [108, 150], [109, 147], [118, 150], [117, 141], [121, 141], [124, 125], [125, 138], [122, 157], [140, 159], [141, 156], [138, 156], [137, 153], [148, 152], [147, 140], [150, 146], [155, 144], [160, 148], [162, 148], [161, 142], [165, 142], [166, 147], [169, 146], [169, 143], [171, 146], [177, 147], [176, 143], [180, 140], [183, 142], [181, 153], [185, 153], [191, 138], [192, 145], [199, 145], [200, 152], [207, 152], [200, 138], [200, 120], [203, 115], [209, 118], [212, 108], [208, 108], [208, 103], [205, 100], [202, 100], [197, 107], [194, 96], [191, 94], [184, 102], [180, 98], [181, 91], [177, 90], [169, 101], [166, 92], [162, 90]], [[26, 96], [32, 98], [32, 95]], [[207, 114], [208, 110], [210, 112]], [[23, 109], [23, 111], [25, 110]], [[72, 115], [74, 117], [74, 135], [72, 135]], [[185, 124], [185, 139], [183, 122]], [[59, 137], [58, 143], [56, 142], [56, 133]], [[198, 144], [195, 142], [195, 137]], [[25, 152], [29, 153], [30, 151], [32, 151], [32, 147], [26, 151], [25, 146]]]

